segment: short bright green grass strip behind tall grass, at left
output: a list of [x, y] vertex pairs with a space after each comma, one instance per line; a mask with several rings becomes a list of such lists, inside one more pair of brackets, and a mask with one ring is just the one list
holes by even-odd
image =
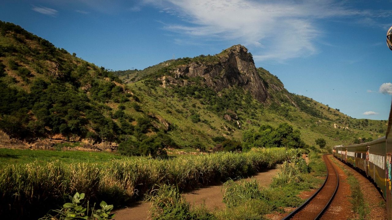
[[106, 163], [114, 159], [123, 159], [125, 156], [109, 152], [96, 151], [49, 151], [49, 150], [22, 150], [0, 148], [0, 166], [7, 164], [27, 164], [37, 162], [44, 164], [59, 160], [65, 164], [72, 163]]

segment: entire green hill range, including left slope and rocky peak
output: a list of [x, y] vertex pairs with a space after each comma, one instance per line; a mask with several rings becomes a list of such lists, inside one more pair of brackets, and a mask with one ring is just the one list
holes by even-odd
[[157, 145], [204, 150], [224, 139], [241, 141], [244, 131], [264, 124], [288, 123], [305, 143], [322, 137], [327, 146], [383, 136], [386, 129], [384, 121], [353, 119], [288, 92], [241, 45], [112, 72], [5, 22], [0, 93], [0, 146], [120, 144], [153, 154]]

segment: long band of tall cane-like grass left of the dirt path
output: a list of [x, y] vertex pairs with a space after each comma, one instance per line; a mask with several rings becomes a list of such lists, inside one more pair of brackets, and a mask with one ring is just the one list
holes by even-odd
[[85, 193], [87, 200], [104, 200], [119, 207], [142, 197], [156, 184], [192, 189], [247, 176], [285, 158], [285, 149], [274, 148], [168, 160], [139, 157], [103, 164], [56, 161], [7, 165], [0, 173], [0, 215], [13, 219], [38, 218], [76, 192]]

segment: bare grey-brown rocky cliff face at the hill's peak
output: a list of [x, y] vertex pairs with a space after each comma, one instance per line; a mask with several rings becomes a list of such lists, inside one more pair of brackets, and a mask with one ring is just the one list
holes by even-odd
[[269, 94], [263, 80], [257, 74], [252, 55], [242, 45], [234, 45], [216, 55], [217, 62], [180, 65], [174, 71], [180, 76], [202, 77], [206, 84], [219, 92], [224, 88], [240, 86], [252, 96], [264, 102]]

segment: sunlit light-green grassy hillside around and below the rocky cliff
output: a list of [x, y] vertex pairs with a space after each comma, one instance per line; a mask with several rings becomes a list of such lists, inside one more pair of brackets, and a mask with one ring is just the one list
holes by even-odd
[[[208, 60], [206, 65], [215, 61], [212, 58]], [[214, 137], [241, 140], [244, 130], [256, 129], [262, 124], [278, 126], [280, 123], [289, 123], [299, 129], [309, 145], [314, 145], [314, 140], [319, 137], [327, 140], [327, 146], [333, 146], [385, 135], [387, 125], [383, 121], [354, 119], [328, 105], [292, 94], [278, 77], [263, 68], [258, 68], [258, 73], [270, 94], [266, 103], [256, 101], [239, 87], [227, 88], [216, 94], [200, 78], [186, 78], [183, 80], [185, 85], [170, 85], [158, 80], [162, 79], [162, 72], [168, 71], [167, 67], [173, 69], [173, 63], [190, 62], [201, 62], [200, 56], [165, 61], [120, 77], [128, 81], [129, 88], [140, 97], [143, 111], [160, 115], [171, 124], [172, 129], [168, 133], [180, 146], [200, 141], [212, 147], [216, 144]], [[168, 75], [171, 76], [170, 69]], [[224, 118], [226, 114], [236, 115], [238, 120], [228, 121]]]

